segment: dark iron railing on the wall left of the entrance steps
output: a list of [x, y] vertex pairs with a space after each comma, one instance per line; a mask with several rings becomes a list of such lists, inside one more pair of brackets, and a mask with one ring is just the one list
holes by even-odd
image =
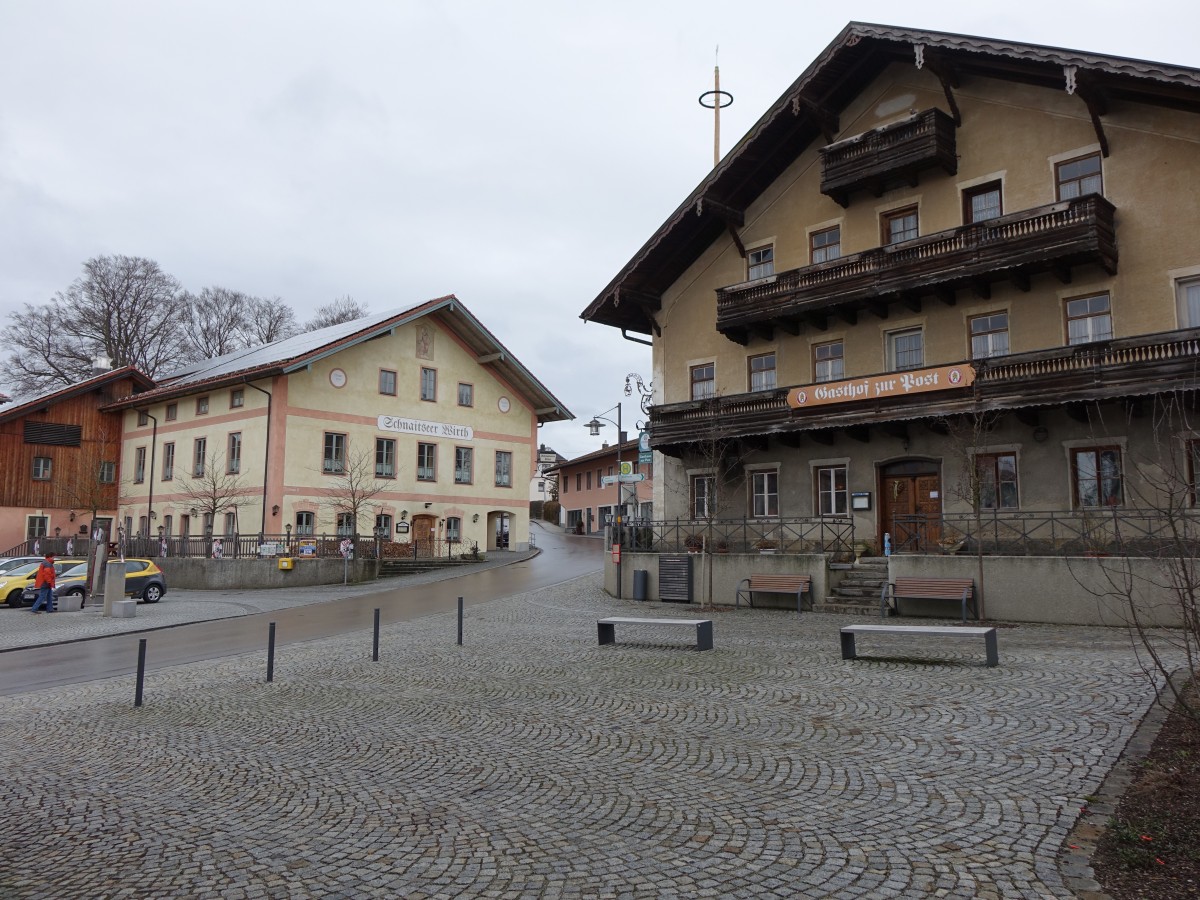
[[854, 522], [848, 517], [631, 520], [619, 529], [623, 547], [650, 553], [707, 550], [710, 553], [830, 553], [854, 556]]

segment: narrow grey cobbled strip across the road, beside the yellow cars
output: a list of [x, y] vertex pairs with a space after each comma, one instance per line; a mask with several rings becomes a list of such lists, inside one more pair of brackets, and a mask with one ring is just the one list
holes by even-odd
[[[469, 571], [498, 565], [511, 565], [536, 554], [536, 551], [512, 553], [492, 552], [484, 563], [473, 563]], [[418, 575], [362, 584], [313, 584], [302, 588], [269, 588], [262, 590], [170, 590], [157, 604], [138, 604], [132, 619], [104, 618], [100, 607], [34, 616], [26, 606], [12, 610], [0, 605], [0, 650], [16, 647], [38, 647], [65, 641], [86, 641], [94, 637], [173, 628], [192, 622], [226, 619], [257, 612], [288, 610], [293, 606], [330, 602], [344, 596], [360, 596], [407, 584], [427, 584], [463, 575], [462, 569], [438, 569]]]

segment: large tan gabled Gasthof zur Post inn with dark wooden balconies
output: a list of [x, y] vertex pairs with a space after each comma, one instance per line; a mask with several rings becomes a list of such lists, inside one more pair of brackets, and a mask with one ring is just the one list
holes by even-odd
[[1198, 173], [1200, 71], [847, 25], [582, 313], [653, 340], [654, 509], [1150, 541], [1200, 478]]

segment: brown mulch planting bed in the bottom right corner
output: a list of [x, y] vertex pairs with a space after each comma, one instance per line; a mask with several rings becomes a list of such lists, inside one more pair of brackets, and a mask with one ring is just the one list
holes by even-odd
[[[1189, 704], [1200, 708], [1193, 682]], [[1200, 720], [1172, 709], [1092, 854], [1115, 900], [1200, 896]]]

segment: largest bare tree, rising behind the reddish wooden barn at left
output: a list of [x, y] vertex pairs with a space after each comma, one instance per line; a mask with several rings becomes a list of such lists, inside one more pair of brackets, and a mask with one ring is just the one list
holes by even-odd
[[179, 361], [184, 328], [174, 277], [142, 257], [94, 257], [83, 270], [46, 307], [26, 304], [10, 317], [8, 338], [17, 347], [10, 378], [17, 390], [77, 384], [92, 374], [98, 358], [151, 377]]

